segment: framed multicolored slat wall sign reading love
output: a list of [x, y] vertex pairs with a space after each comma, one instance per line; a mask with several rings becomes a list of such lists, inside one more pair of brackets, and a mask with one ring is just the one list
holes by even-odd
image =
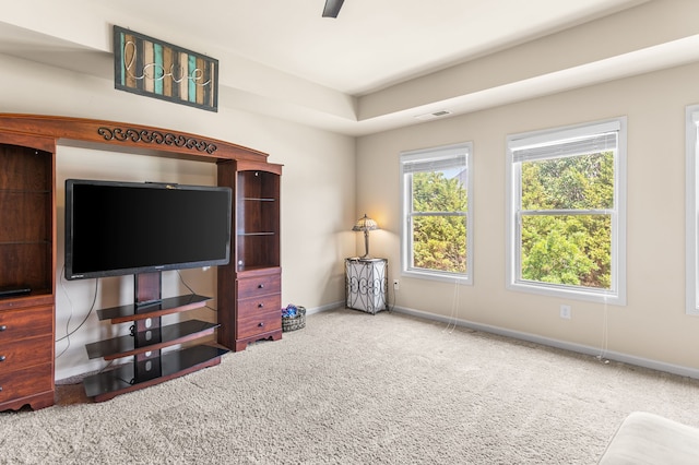
[[218, 110], [218, 60], [114, 26], [115, 88]]

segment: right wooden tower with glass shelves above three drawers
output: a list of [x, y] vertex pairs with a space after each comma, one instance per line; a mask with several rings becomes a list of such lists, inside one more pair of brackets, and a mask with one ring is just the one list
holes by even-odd
[[[281, 176], [281, 165], [218, 165], [218, 184], [236, 192], [235, 260], [218, 269], [218, 343], [235, 351], [282, 337]], [[235, 283], [235, 295], [222, 300], [226, 283]]]

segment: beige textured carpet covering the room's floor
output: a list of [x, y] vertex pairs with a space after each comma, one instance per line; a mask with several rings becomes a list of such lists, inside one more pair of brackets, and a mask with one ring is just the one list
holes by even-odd
[[105, 403], [71, 389], [0, 414], [1, 463], [594, 464], [633, 410], [699, 426], [695, 380], [345, 309]]

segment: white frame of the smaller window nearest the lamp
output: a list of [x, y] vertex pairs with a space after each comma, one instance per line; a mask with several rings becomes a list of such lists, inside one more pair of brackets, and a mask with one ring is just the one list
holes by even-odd
[[[448, 160], [458, 156], [466, 156], [467, 170], [467, 202], [466, 216], [466, 273], [449, 273], [436, 270], [413, 267], [413, 235], [412, 235], [412, 191], [411, 183], [406, 182], [405, 167], [410, 163]], [[433, 148], [402, 152], [400, 154], [401, 176], [401, 275], [424, 279], [435, 279], [464, 285], [473, 284], [473, 143], [443, 145]]]

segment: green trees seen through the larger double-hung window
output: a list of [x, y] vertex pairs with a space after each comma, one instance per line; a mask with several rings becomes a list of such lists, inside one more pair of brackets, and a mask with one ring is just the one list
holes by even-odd
[[609, 289], [614, 152], [521, 165], [521, 277]]

